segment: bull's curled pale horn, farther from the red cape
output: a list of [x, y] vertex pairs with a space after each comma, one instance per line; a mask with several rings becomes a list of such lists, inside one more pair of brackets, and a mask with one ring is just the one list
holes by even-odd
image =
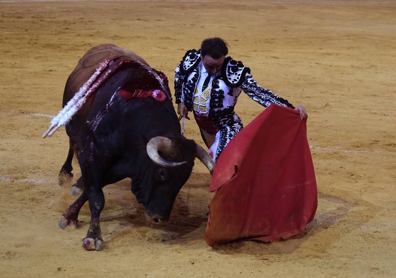
[[171, 152], [172, 149], [173, 149], [172, 140], [163, 136], [157, 136], [151, 138], [146, 146], [148, 157], [150, 157], [150, 159], [157, 165], [164, 167], [176, 167], [187, 163], [187, 161], [183, 161], [183, 162], [166, 161], [158, 154], [158, 151], [167, 153], [167, 152]]

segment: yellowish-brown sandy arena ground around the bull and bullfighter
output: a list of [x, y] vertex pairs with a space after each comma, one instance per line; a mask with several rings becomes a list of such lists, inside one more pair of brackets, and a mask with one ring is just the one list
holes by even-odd
[[[0, 0], [0, 276], [395, 276], [395, 14], [390, 0]], [[197, 161], [166, 226], [145, 222], [128, 180], [105, 187], [105, 249], [85, 251], [87, 204], [80, 229], [57, 225], [75, 200], [57, 184], [65, 129], [41, 137], [68, 75], [90, 47], [114, 43], [173, 84], [185, 51], [213, 36], [263, 87], [307, 108], [314, 221], [296, 239], [210, 248], [213, 193]], [[244, 94], [236, 106], [245, 125], [262, 110]], [[185, 136], [203, 145], [193, 120]]]

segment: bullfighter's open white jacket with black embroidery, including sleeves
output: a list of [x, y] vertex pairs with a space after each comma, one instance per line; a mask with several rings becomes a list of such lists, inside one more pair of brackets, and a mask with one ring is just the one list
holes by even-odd
[[[200, 77], [200, 50], [188, 50], [175, 71], [176, 103], [184, 101], [188, 111], [192, 110], [192, 99]], [[234, 111], [238, 96], [243, 90], [252, 100], [268, 107], [271, 103], [294, 108], [287, 100], [272, 91], [260, 87], [250, 74], [250, 69], [231, 57], [225, 58], [223, 66], [212, 81], [209, 100], [209, 117], [220, 119]]]

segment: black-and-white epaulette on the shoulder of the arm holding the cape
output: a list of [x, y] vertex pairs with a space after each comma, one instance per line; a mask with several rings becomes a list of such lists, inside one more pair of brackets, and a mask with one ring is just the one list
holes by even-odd
[[235, 61], [231, 57], [224, 59], [221, 73], [223, 75], [224, 82], [228, 86], [232, 88], [240, 86], [245, 80], [247, 72], [250, 73], [250, 68], [244, 66], [241, 61]]

